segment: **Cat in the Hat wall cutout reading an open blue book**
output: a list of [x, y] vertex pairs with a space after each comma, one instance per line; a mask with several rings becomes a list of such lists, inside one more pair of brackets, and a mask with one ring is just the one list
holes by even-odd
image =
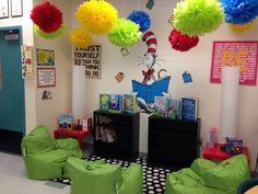
[[141, 64], [146, 67], [146, 71], [142, 70], [143, 80], [142, 82], [132, 80], [132, 90], [137, 93], [137, 103], [139, 107], [151, 114], [154, 110], [154, 96], [162, 96], [164, 93], [167, 93], [168, 84], [171, 77], [166, 76], [164, 78], [160, 78], [160, 71], [166, 71], [165, 69], [161, 69], [157, 75], [159, 79], [155, 79], [154, 65], [157, 64], [157, 41], [153, 32], [148, 31], [143, 36], [142, 41], [146, 43], [148, 50], [144, 54], [143, 59], [141, 59]]

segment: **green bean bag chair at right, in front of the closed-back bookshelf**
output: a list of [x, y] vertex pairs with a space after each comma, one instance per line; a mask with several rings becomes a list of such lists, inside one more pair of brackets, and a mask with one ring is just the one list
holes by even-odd
[[199, 158], [190, 168], [167, 175], [165, 194], [236, 194], [238, 185], [249, 178], [250, 171], [244, 155], [219, 164]]

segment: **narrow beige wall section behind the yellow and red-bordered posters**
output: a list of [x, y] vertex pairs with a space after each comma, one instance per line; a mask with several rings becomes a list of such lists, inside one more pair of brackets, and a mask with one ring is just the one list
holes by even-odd
[[[43, 2], [34, 0], [34, 4]], [[44, 124], [52, 130], [57, 128], [57, 116], [60, 113], [71, 113], [72, 93], [72, 50], [69, 41], [71, 28], [71, 4], [69, 0], [51, 0], [63, 14], [64, 33], [55, 39], [46, 39], [34, 33], [34, 46], [42, 49], [55, 50], [56, 87], [36, 88], [36, 123]], [[36, 64], [36, 57], [35, 57]], [[43, 91], [51, 91], [51, 100], [42, 100]]]

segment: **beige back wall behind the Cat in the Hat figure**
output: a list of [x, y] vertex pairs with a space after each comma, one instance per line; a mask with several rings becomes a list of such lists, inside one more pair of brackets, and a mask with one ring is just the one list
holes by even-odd
[[[81, 1], [83, 2], [83, 1]], [[72, 2], [72, 12], [81, 2]], [[257, 41], [258, 24], [248, 32], [236, 33], [222, 24], [220, 28], [211, 34], [200, 37], [199, 46], [187, 52], [180, 53], [171, 48], [167, 41], [172, 30], [167, 22], [175, 1], [163, 0], [155, 1], [152, 11], [144, 8], [145, 1], [108, 0], [119, 11], [119, 16], [126, 18], [132, 10], [140, 9], [148, 12], [152, 19], [151, 31], [157, 38], [157, 58], [161, 66], [155, 65], [155, 69], [166, 69], [171, 75], [169, 93], [173, 98], [199, 98], [199, 117], [201, 118], [201, 138], [209, 140], [209, 129], [212, 126], [220, 127], [220, 95], [221, 85], [210, 83], [210, 69], [213, 41]], [[139, 5], [138, 5], [139, 4]], [[78, 23], [72, 14], [72, 26]], [[124, 57], [118, 47], [112, 45], [105, 36], [94, 36], [94, 43], [103, 46], [102, 58], [102, 79], [85, 79], [86, 82], [86, 116], [92, 116], [94, 110], [98, 109], [99, 93], [129, 93], [131, 80], [142, 80], [141, 70], [144, 66], [139, 66], [139, 57], [146, 52], [146, 45], [139, 42], [137, 45], [128, 48], [130, 55]], [[194, 82], [185, 84], [181, 73], [189, 71]], [[125, 79], [118, 83], [115, 80], [117, 72], [125, 72]], [[239, 119], [238, 137], [249, 147], [251, 156], [251, 167], [254, 168], [258, 141], [258, 87], [239, 87]], [[169, 144], [169, 142], [168, 142]], [[140, 151], [148, 151], [148, 115], [141, 114], [140, 124]]]

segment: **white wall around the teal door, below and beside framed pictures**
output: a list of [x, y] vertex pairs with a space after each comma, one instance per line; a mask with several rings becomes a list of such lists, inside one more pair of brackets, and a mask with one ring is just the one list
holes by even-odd
[[[11, 8], [11, 1], [9, 1], [9, 9]], [[7, 19], [0, 20], [0, 26], [22, 26], [23, 44], [32, 46], [33, 42], [33, 23], [30, 19], [30, 13], [33, 8], [33, 2], [26, 0], [23, 3], [23, 15], [19, 18], [11, 18], [11, 14]], [[9, 11], [11, 13], [11, 11]], [[36, 125], [36, 102], [35, 102], [35, 79], [24, 81], [25, 90], [25, 112], [26, 112], [26, 130], [30, 130]]]

